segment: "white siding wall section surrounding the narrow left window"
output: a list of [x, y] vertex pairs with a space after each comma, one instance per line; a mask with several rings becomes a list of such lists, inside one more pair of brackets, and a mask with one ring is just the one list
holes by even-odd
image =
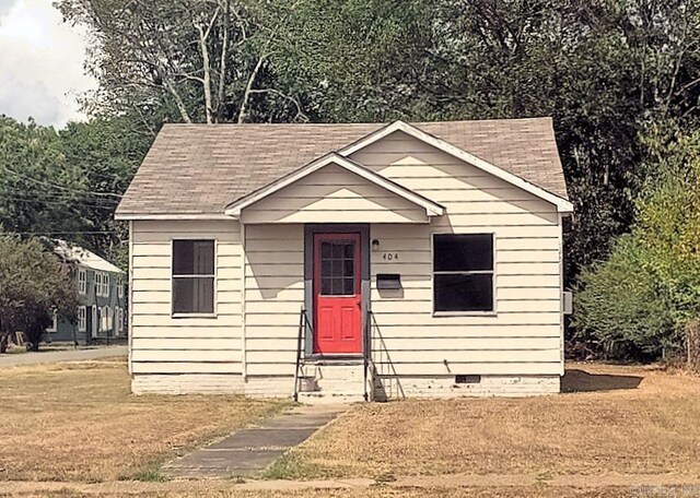
[[[214, 317], [172, 316], [172, 240], [180, 238], [217, 241]], [[212, 375], [226, 374], [217, 379], [229, 381], [231, 375], [241, 376], [243, 249], [238, 222], [133, 222], [131, 272], [135, 392], [205, 392], [213, 389]], [[177, 375], [186, 376], [173, 380]]]

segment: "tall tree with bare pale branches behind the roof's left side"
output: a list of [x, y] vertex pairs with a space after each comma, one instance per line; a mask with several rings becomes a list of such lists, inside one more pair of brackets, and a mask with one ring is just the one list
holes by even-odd
[[[102, 110], [182, 122], [244, 122], [259, 96], [281, 97], [281, 119], [299, 103], [266, 80], [279, 31], [295, 3], [234, 0], [61, 0], [66, 19], [91, 28], [89, 70]], [[262, 84], [262, 85], [261, 85]]]

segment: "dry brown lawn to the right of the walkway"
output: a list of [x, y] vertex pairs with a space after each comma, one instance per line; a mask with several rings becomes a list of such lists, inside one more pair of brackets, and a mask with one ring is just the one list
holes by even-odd
[[571, 365], [564, 390], [545, 398], [358, 405], [269, 472], [285, 478], [700, 476], [700, 378]]

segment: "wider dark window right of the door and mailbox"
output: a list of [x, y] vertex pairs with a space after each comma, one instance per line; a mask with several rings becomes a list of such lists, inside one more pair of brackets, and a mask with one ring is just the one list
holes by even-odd
[[493, 234], [433, 236], [433, 309], [493, 311]]

